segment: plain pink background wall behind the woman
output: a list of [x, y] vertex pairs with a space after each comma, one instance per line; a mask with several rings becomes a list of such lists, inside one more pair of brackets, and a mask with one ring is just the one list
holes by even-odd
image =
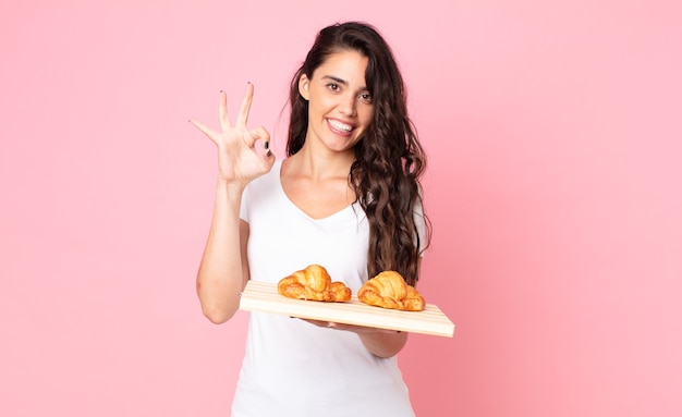
[[204, 319], [218, 91], [377, 25], [430, 156], [400, 361], [419, 416], [682, 413], [678, 1], [24, 1], [0, 7], [0, 415], [226, 416], [246, 314]]

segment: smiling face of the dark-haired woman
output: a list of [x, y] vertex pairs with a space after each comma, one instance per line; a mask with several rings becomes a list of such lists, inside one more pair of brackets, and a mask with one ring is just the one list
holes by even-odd
[[308, 101], [306, 143], [315, 140], [333, 151], [352, 149], [372, 122], [372, 96], [365, 83], [367, 58], [354, 50], [330, 54], [313, 76], [299, 79]]

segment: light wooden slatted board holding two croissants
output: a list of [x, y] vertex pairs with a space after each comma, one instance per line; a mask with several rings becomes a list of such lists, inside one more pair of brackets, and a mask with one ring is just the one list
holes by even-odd
[[309, 302], [287, 298], [269, 282], [248, 281], [240, 309], [447, 338], [454, 334], [452, 321], [434, 304], [427, 303], [423, 311], [400, 311], [368, 306], [355, 295], [345, 303]]

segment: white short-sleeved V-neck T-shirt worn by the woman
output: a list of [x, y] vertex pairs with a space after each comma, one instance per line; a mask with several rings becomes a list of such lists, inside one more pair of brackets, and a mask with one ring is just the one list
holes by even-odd
[[[369, 228], [360, 205], [313, 219], [285, 195], [282, 161], [246, 187], [251, 279], [276, 283], [308, 265], [324, 266], [353, 294], [367, 280]], [[249, 312], [234, 417], [414, 416], [395, 357], [378, 358], [352, 332]]]

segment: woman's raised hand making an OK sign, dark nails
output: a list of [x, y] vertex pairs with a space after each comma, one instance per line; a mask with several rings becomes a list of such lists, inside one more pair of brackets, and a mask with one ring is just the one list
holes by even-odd
[[[228, 116], [228, 99], [220, 91], [220, 132], [216, 132], [204, 123], [191, 119], [190, 122], [204, 132], [218, 146], [218, 180], [224, 184], [246, 186], [252, 180], [267, 173], [275, 163], [275, 156], [269, 149], [270, 134], [265, 127], [248, 130], [248, 111], [254, 97], [254, 86], [248, 83], [242, 99], [242, 106], [234, 125]], [[256, 144], [263, 144], [263, 150]]]

